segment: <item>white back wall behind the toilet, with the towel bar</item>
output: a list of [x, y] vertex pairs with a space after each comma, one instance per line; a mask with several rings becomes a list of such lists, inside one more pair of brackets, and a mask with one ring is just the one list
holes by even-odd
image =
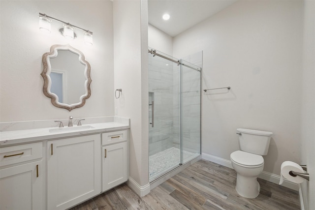
[[[202, 152], [226, 160], [236, 128], [274, 133], [264, 171], [300, 162], [303, 1], [239, 0], [173, 38], [173, 56], [203, 51]], [[183, 47], [185, 46], [185, 47]]]

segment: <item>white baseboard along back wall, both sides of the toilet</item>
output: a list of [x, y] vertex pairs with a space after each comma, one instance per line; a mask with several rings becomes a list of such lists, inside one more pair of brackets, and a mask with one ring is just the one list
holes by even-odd
[[[214, 162], [214, 163], [218, 163], [222, 166], [226, 166], [228, 168], [233, 168], [230, 160], [226, 160], [226, 159], [223, 159], [221, 157], [217, 157], [217, 156], [214, 156], [211, 154], [202, 153], [202, 158], [205, 160], [209, 160], [211, 162]], [[261, 174], [258, 177], [260, 179], [267, 180], [267, 181], [270, 181], [270, 182], [275, 183], [275, 184], [279, 184], [279, 182], [280, 182], [280, 176], [279, 175], [271, 174], [271, 173], [266, 172], [266, 171], [261, 172]], [[282, 186], [285, 186], [287, 188], [290, 188], [290, 189], [293, 189], [296, 191], [299, 190], [298, 184], [293, 183], [293, 182], [291, 182], [285, 178], [284, 178], [284, 182], [282, 183]]]

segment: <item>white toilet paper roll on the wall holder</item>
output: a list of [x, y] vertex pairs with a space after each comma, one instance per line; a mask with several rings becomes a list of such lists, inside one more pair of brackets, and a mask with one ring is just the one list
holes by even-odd
[[284, 161], [281, 164], [281, 177], [280, 177], [280, 183], [279, 184], [282, 184], [284, 182], [284, 178], [286, 178], [287, 180], [294, 182], [294, 183], [302, 183], [304, 181], [304, 179], [302, 177], [291, 176], [289, 174], [290, 171], [294, 171], [294, 172], [298, 172], [298, 173], [305, 173], [299, 164], [292, 162], [292, 161]]

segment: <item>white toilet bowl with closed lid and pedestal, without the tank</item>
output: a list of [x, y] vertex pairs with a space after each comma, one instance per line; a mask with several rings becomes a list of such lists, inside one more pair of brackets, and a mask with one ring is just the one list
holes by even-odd
[[237, 193], [245, 198], [256, 198], [260, 191], [257, 178], [264, 168], [264, 159], [261, 155], [240, 150], [232, 152], [230, 158], [237, 173]]

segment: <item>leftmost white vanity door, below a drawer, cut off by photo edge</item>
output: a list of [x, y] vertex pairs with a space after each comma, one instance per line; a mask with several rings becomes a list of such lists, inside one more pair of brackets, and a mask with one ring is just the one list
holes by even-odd
[[0, 170], [0, 210], [43, 209], [41, 161]]

